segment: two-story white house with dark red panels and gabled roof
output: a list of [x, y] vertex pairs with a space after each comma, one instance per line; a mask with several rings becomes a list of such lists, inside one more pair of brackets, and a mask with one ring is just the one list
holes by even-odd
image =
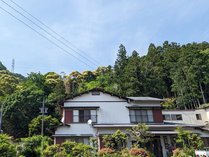
[[156, 157], [166, 157], [167, 145], [173, 144], [177, 126], [201, 133], [197, 128], [203, 124], [164, 122], [162, 101], [153, 97], [121, 97], [102, 89], [80, 93], [64, 102], [63, 125], [56, 129], [54, 142], [58, 144], [71, 140], [89, 144], [90, 137], [97, 137], [101, 148], [103, 135], [118, 129], [126, 132], [138, 123], [146, 123], [154, 135], [153, 152]]

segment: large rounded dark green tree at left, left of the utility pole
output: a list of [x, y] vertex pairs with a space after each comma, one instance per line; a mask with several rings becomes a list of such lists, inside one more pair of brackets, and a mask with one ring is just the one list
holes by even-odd
[[14, 137], [27, 136], [28, 124], [40, 112], [43, 93], [36, 85], [26, 83], [7, 96], [3, 109], [3, 131]]

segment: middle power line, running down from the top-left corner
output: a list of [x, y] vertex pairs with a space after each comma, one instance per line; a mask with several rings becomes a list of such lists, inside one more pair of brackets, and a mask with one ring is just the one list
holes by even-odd
[[[31, 23], [33, 23], [35, 26], [37, 26], [38, 28], [40, 28], [41, 30], [43, 30], [45, 33], [47, 33], [49, 36], [51, 36], [52, 38], [54, 38], [55, 40], [57, 40], [58, 42], [60, 42], [61, 44], [63, 44], [64, 46], [68, 47], [69, 49], [71, 49], [72, 51], [76, 52], [79, 56], [87, 59], [85, 56], [80, 55], [76, 50], [74, 50], [72, 47], [68, 46], [66, 43], [64, 43], [63, 41], [61, 41], [60, 39], [58, 39], [57, 37], [55, 37], [54, 35], [52, 35], [51, 33], [49, 33], [47, 30], [45, 30], [44, 28], [42, 28], [41, 26], [39, 26], [38, 24], [36, 24], [34, 21], [32, 21], [31, 19], [29, 19], [27, 16], [25, 16], [24, 14], [22, 14], [21, 12], [19, 12], [17, 9], [15, 9], [14, 7], [12, 7], [11, 5], [9, 5], [7, 2], [5, 2], [4, 0], [1, 0], [4, 4], [6, 4], [8, 7], [10, 7], [11, 9], [13, 9], [15, 12], [17, 12], [18, 14], [20, 14], [21, 16], [23, 16], [24, 18], [26, 18], [28, 21], [30, 21]], [[88, 61], [90, 61], [89, 59], [87, 59]], [[93, 65], [97, 66], [96, 64], [94, 64], [92, 61], [90, 61]]]

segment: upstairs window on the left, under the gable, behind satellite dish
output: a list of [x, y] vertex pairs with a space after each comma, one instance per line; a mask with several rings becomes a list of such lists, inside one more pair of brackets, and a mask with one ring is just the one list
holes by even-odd
[[93, 123], [97, 122], [96, 110], [90, 110], [90, 109], [73, 110], [74, 123], [87, 123], [89, 119], [91, 119]]

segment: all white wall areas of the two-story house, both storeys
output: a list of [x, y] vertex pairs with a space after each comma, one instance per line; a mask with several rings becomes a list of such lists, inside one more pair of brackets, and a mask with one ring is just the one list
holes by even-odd
[[[111, 96], [100, 92], [100, 95], [92, 95], [91, 92], [81, 96], [69, 99], [64, 103], [64, 107], [93, 107], [99, 106], [97, 110], [98, 124], [130, 124], [129, 109], [127, 106], [160, 106], [159, 102], [127, 102], [126, 99], [120, 99], [116, 96]], [[71, 123], [70, 127], [59, 127], [55, 134], [96, 134], [97, 129], [92, 128], [85, 123]], [[112, 130], [104, 129], [107, 133]], [[100, 130], [103, 133], [102, 130]]]

